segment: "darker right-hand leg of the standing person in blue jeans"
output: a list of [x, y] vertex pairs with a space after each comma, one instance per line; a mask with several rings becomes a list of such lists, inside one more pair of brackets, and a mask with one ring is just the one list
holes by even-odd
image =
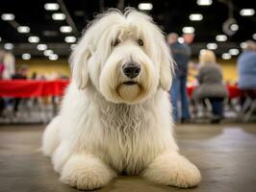
[[187, 95], [187, 77], [180, 77], [180, 94], [181, 94], [181, 118], [190, 119], [189, 102]]

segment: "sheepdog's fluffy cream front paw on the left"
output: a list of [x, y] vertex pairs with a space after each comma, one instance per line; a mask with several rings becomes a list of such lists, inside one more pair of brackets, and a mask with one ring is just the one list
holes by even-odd
[[106, 185], [115, 172], [93, 156], [71, 156], [61, 174], [61, 181], [81, 190], [92, 190]]

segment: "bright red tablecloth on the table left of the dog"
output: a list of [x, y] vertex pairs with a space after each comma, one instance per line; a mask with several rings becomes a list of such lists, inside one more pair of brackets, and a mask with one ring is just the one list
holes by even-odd
[[43, 97], [61, 96], [64, 88], [69, 84], [67, 80], [34, 81], [34, 80], [1, 80], [0, 97]]

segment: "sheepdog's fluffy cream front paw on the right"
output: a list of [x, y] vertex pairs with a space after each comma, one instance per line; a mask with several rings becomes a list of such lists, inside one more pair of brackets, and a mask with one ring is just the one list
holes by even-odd
[[184, 156], [166, 154], [158, 156], [142, 176], [157, 183], [188, 188], [198, 185], [199, 170]]

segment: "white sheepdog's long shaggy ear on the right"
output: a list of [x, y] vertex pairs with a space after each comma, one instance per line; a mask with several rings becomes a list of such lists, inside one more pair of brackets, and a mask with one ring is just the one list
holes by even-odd
[[164, 90], [168, 91], [172, 83], [174, 62], [170, 57], [170, 51], [165, 39], [162, 39], [160, 47], [160, 84]]

